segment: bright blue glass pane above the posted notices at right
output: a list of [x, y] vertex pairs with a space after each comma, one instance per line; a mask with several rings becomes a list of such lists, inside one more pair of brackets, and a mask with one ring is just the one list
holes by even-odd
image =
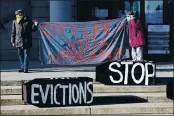
[[146, 14], [146, 23], [162, 24], [163, 23], [163, 0], [146, 0], [145, 14]]

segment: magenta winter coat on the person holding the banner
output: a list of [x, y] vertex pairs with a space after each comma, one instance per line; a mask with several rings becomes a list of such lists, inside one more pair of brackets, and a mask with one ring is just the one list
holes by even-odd
[[131, 47], [138, 47], [145, 44], [143, 27], [140, 19], [133, 19], [128, 25]]

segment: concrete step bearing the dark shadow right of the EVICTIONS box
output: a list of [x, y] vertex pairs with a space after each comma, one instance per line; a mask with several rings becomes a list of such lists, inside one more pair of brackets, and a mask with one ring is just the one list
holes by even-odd
[[[150, 102], [150, 103], [172, 103], [166, 97], [166, 93], [94, 93], [94, 104], [103, 103], [139, 103], [139, 102]], [[22, 95], [2, 95], [1, 105], [23, 105]]]

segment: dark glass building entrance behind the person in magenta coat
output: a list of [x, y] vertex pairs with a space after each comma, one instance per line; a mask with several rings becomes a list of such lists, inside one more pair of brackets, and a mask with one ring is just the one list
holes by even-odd
[[173, 0], [78, 0], [77, 21], [122, 18], [130, 10], [140, 17], [144, 26], [145, 59], [172, 61]]

